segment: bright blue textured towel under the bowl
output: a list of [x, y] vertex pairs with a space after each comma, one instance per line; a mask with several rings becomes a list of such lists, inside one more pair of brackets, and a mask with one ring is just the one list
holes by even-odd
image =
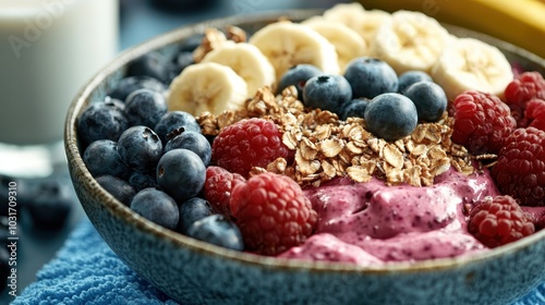
[[[12, 304], [178, 304], [155, 289], [108, 247], [88, 219]], [[545, 304], [545, 283], [513, 305]]]

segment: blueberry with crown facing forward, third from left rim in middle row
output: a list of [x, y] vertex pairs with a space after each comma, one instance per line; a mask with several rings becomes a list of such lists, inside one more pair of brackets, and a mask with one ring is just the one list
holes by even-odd
[[147, 172], [157, 166], [162, 155], [162, 144], [152, 129], [132, 126], [119, 137], [118, 154], [131, 169]]

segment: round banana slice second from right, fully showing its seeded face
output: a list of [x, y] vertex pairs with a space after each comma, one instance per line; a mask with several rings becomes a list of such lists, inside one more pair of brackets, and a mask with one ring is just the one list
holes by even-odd
[[383, 23], [372, 44], [372, 54], [398, 73], [429, 72], [450, 41], [449, 33], [435, 19], [421, 12], [397, 11]]

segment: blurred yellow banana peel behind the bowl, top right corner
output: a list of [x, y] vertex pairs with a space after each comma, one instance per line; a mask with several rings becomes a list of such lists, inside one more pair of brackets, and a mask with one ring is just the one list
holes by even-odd
[[544, 0], [360, 0], [366, 9], [421, 11], [494, 36], [545, 59]]

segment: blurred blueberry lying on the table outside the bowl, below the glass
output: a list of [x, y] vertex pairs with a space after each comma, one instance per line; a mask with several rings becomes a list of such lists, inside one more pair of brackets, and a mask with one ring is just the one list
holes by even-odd
[[60, 229], [66, 222], [75, 202], [70, 181], [50, 176], [39, 181], [27, 205], [33, 224], [39, 229]]

